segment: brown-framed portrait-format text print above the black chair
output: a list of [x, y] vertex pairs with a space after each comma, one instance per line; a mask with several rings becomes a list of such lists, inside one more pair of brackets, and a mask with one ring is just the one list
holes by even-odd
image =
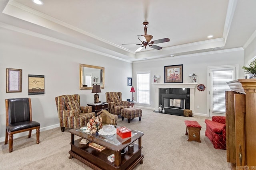
[[22, 91], [22, 70], [6, 68], [6, 93]]

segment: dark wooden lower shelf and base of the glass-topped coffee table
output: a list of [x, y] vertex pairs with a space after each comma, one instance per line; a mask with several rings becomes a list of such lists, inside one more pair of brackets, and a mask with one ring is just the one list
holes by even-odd
[[141, 154], [138, 144], [134, 143], [134, 150], [132, 153], [128, 153], [128, 147], [126, 147], [126, 154], [121, 156], [120, 166], [115, 166], [114, 162], [108, 160], [108, 156], [115, 151], [111, 149], [105, 149], [101, 152], [89, 147], [88, 145], [79, 144], [81, 139], [74, 141], [71, 144], [71, 150], [69, 151], [69, 158], [76, 158], [84, 164], [90, 166], [95, 170], [132, 170], [137, 164], [143, 163], [144, 155]]

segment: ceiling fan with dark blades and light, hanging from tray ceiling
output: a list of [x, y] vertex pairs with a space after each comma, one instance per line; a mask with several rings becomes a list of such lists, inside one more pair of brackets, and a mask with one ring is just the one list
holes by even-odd
[[[140, 44], [133, 44], [133, 45], [142, 45], [141, 47], [139, 47], [135, 52], [138, 52], [140, 51], [141, 49], [143, 49], [143, 47], [147, 47], [147, 45], [153, 49], [157, 49], [157, 50], [160, 50], [162, 49], [162, 47], [159, 47], [157, 45], [154, 45], [154, 44], [158, 44], [158, 43], [165, 43], [165, 42], [168, 42], [170, 41], [170, 39], [168, 38], [163, 38], [163, 39], [157, 39], [157, 40], [154, 40], [154, 41], [151, 41], [151, 39], [153, 38], [152, 35], [147, 35], [147, 25], [148, 25], [148, 21], [144, 21], [142, 23], [144, 25], [144, 35], [138, 35], [138, 39], [140, 40]], [[122, 45], [128, 45], [128, 44], [122, 44]]]

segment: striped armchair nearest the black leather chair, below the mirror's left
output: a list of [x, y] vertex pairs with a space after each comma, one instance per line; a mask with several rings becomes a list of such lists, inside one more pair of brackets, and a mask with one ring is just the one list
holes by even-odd
[[86, 125], [90, 118], [95, 116], [92, 106], [80, 106], [78, 94], [58, 96], [55, 101], [62, 132], [65, 127], [76, 128]]

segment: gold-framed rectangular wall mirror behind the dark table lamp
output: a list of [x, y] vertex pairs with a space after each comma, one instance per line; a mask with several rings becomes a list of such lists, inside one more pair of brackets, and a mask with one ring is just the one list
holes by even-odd
[[100, 85], [104, 89], [104, 67], [79, 64], [80, 90], [92, 89], [92, 85]]

